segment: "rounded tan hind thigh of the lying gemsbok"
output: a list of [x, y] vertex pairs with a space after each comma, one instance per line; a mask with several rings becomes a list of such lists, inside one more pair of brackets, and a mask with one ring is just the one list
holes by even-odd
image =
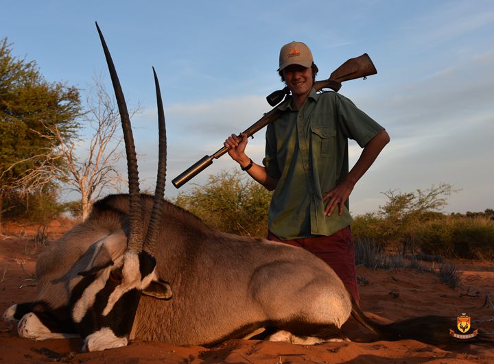
[[350, 295], [329, 267], [320, 268], [327, 271], [289, 261], [259, 268], [250, 289], [266, 320], [298, 336], [339, 330], [351, 313]]

